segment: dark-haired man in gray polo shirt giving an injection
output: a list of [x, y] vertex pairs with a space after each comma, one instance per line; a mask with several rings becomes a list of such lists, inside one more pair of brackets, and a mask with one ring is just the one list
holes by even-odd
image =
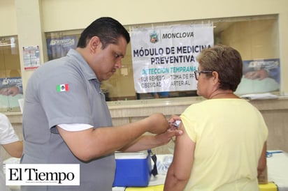
[[121, 68], [129, 41], [122, 24], [101, 17], [81, 33], [76, 49], [31, 76], [24, 98], [21, 163], [80, 164], [80, 185], [25, 185], [22, 191], [112, 190], [114, 151], [143, 151], [182, 133], [171, 130], [163, 114], [112, 127], [100, 86]]

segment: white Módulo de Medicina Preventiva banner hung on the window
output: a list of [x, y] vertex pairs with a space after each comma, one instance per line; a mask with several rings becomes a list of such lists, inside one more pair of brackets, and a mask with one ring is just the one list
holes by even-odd
[[211, 24], [133, 29], [131, 55], [136, 92], [196, 89], [196, 56], [213, 42]]

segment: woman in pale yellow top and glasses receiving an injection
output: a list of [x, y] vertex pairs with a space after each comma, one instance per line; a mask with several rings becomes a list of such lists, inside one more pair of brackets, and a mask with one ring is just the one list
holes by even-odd
[[180, 115], [183, 135], [175, 139], [164, 190], [259, 190], [268, 128], [259, 110], [233, 93], [243, 75], [241, 56], [215, 45], [197, 61], [197, 94], [207, 100]]

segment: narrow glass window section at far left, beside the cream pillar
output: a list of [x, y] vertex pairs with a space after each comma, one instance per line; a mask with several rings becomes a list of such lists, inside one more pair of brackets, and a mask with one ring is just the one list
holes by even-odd
[[0, 112], [20, 111], [23, 98], [17, 36], [0, 37]]

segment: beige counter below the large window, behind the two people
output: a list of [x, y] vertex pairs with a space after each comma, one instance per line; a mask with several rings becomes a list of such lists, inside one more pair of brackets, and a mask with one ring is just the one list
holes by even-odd
[[[167, 119], [181, 114], [189, 105], [205, 100], [203, 97], [161, 98], [147, 100], [110, 101], [108, 107], [112, 116], [113, 125], [123, 125], [138, 121], [152, 113], [161, 112]], [[247, 100], [257, 107], [268, 126], [269, 135], [267, 146], [269, 150], [288, 152], [288, 97], [279, 97], [271, 100]], [[21, 112], [5, 113], [13, 124], [17, 135], [22, 138]], [[170, 153], [168, 146], [153, 149], [154, 153]], [[7, 158], [7, 156], [6, 156]], [[5, 160], [5, 157], [4, 157]]]

